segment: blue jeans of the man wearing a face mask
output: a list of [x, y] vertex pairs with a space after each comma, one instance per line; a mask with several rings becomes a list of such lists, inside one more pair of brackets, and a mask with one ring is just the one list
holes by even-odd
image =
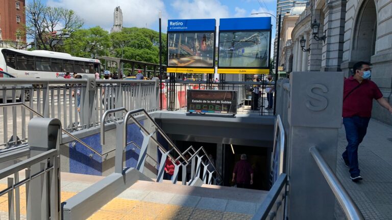
[[359, 116], [343, 118], [348, 145], [346, 147], [346, 151], [343, 152], [341, 156], [344, 160], [349, 161], [350, 174], [352, 177], [356, 177], [360, 173], [358, 165], [358, 146], [366, 134], [369, 120], [370, 118], [363, 118]]

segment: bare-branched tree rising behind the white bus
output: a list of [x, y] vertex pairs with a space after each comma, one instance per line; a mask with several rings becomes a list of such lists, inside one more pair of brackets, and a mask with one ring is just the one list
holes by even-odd
[[60, 51], [63, 41], [82, 25], [82, 18], [72, 10], [44, 6], [40, 0], [26, 7], [26, 34], [35, 38], [35, 49]]

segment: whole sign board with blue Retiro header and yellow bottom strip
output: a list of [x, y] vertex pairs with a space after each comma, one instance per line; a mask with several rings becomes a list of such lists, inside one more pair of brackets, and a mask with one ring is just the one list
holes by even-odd
[[168, 71], [213, 73], [215, 19], [168, 20]]

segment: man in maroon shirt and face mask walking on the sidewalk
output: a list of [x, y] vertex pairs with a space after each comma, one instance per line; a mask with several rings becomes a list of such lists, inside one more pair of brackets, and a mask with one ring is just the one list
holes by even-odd
[[348, 145], [341, 155], [346, 167], [350, 168], [350, 178], [357, 182], [359, 175], [358, 146], [366, 134], [367, 125], [372, 116], [373, 99], [388, 109], [392, 114], [392, 106], [382, 97], [378, 86], [371, 81], [370, 64], [358, 62], [353, 67], [354, 75], [345, 79], [343, 92], [343, 124], [346, 129]]

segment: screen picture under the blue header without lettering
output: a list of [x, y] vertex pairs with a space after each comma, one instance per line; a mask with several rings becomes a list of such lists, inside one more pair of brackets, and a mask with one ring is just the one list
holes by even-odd
[[219, 67], [268, 67], [269, 32], [220, 32]]

